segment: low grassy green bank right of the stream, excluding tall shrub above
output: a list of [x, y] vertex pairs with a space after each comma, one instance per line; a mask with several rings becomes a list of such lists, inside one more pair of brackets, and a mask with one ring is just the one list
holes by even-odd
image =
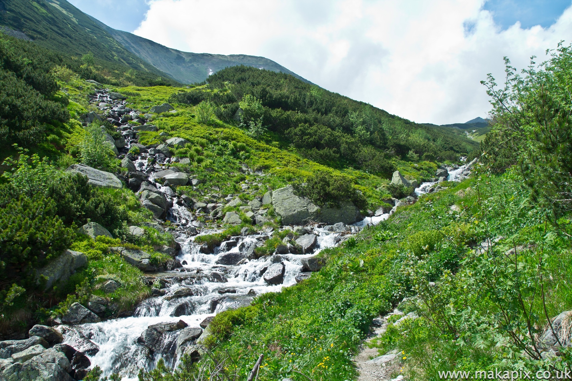
[[[235, 373], [246, 377], [259, 354], [264, 354], [262, 381], [355, 379], [352, 356], [371, 319], [399, 307], [420, 318], [388, 327], [370, 344], [379, 355], [401, 353], [392, 378], [438, 380], [438, 371], [473, 375], [495, 367], [554, 371], [570, 364], [569, 352], [553, 362], [527, 357], [518, 337], [511, 338], [519, 329], [526, 335], [525, 319], [514, 304], [519, 296], [534, 313], [535, 327], [545, 326], [541, 283], [548, 316], [572, 308], [567, 287], [571, 246], [565, 234], [570, 228], [546, 227], [542, 208], [533, 205], [521, 209], [517, 220], [507, 219], [514, 216], [515, 205], [526, 204], [530, 190], [515, 173], [490, 176], [483, 171], [479, 176], [447, 184], [451, 188], [399, 208], [342, 247], [324, 250], [320, 256], [327, 266], [309, 280], [261, 295], [249, 307], [219, 313], [206, 342], [212, 358], [226, 361], [229, 379]], [[510, 204], [505, 202], [509, 199]], [[508, 238], [488, 251], [475, 251], [486, 237]], [[513, 271], [514, 258], [503, 255], [515, 245], [520, 275]], [[542, 275], [539, 256], [544, 258]], [[503, 313], [509, 314], [507, 320]], [[173, 378], [158, 368], [142, 379], [198, 376], [189, 365]]]

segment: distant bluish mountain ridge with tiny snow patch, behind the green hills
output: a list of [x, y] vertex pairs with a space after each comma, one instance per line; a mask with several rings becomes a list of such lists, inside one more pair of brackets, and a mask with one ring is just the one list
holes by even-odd
[[[92, 18], [93, 19], [93, 18]], [[168, 73], [183, 84], [205, 81], [212, 73], [230, 66], [245, 65], [258, 69], [271, 70], [290, 74], [304, 82], [308, 82], [298, 74], [284, 68], [284, 66], [264, 57], [255, 57], [245, 54], [209, 54], [188, 53], [161, 45], [132, 33], [113, 29], [104, 23], [93, 19], [110, 35], [113, 36], [125, 49], [151, 63], [157, 69]]]

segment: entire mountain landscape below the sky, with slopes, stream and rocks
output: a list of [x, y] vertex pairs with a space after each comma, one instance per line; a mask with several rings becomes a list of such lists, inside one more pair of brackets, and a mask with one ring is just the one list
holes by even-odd
[[0, 2], [0, 379], [570, 378], [572, 45], [505, 68], [418, 124]]

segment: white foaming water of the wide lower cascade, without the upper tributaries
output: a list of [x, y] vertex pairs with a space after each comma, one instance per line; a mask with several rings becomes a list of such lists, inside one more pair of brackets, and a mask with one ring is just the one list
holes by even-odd
[[[347, 229], [359, 231], [359, 227], [355, 226]], [[316, 255], [321, 249], [335, 246], [349, 231], [333, 232], [328, 231], [327, 227], [315, 227], [312, 233], [317, 235], [316, 248], [312, 254], [288, 253], [258, 260], [246, 259], [237, 265], [217, 264], [217, 261], [225, 255], [239, 253], [239, 247], [263, 242], [271, 233], [235, 237], [236, 241], [226, 241], [210, 254], [200, 252], [200, 245], [194, 243], [196, 236], [178, 239], [181, 252], [177, 259], [184, 265], [178, 269], [180, 271], [165, 272], [160, 276], [168, 283], [166, 296], [182, 288], [191, 289], [192, 295], [171, 300], [165, 300], [164, 296], [150, 297], [138, 305], [133, 316], [80, 324], [73, 328], [99, 347], [99, 351], [90, 355], [89, 359], [92, 366], [101, 367], [104, 376], [118, 372], [123, 376], [123, 380], [136, 380], [140, 368], [150, 370], [160, 358], [169, 366], [173, 366], [180, 355], [174, 344], [176, 335], [173, 335], [170, 341], [164, 340], [162, 346], [151, 353], [137, 342], [143, 331], [152, 324], [178, 320], [183, 320], [190, 327], [198, 327], [208, 316], [214, 316], [225, 309], [248, 305], [253, 297], [261, 293], [278, 292], [283, 287], [296, 284], [296, 275], [303, 271], [301, 259]], [[228, 244], [229, 242], [231, 244]], [[230, 245], [232, 247], [228, 248]], [[284, 280], [281, 284], [271, 285], [264, 280], [263, 272], [276, 261], [284, 263]], [[65, 343], [77, 344], [74, 341], [77, 340], [76, 336], [65, 335], [65, 339]]]

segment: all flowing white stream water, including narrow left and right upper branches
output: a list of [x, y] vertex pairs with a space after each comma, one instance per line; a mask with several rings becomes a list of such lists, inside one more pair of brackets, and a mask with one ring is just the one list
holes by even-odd
[[[119, 152], [127, 153], [130, 146], [137, 143], [137, 133], [126, 123], [123, 116], [132, 112], [134, 118], [138, 112], [126, 108], [125, 101], [110, 98], [107, 90], [98, 90], [92, 103], [98, 104], [108, 116], [112, 114], [121, 117], [120, 120], [116, 118], [115, 123], [117, 130], [125, 138], [125, 146], [121, 147]], [[390, 216], [389, 213], [380, 213], [353, 225], [308, 225], [304, 229], [307, 233], [316, 235], [316, 243], [313, 250], [306, 254], [275, 254], [252, 260], [244, 258], [241, 253], [263, 243], [271, 237], [271, 231], [232, 237], [216, 247], [214, 253], [203, 253], [201, 246], [194, 243], [197, 235], [189, 233], [189, 227], [196, 222], [193, 212], [182, 206], [183, 203], [172, 189], [156, 184], [152, 179], [152, 174], [166, 169], [169, 162], [170, 159], [164, 156], [149, 160], [149, 155], [140, 155], [134, 160], [137, 172], [144, 174], [150, 184], [156, 185], [169, 204], [173, 205], [169, 208], [166, 219], [177, 227], [172, 233], [181, 247], [177, 259], [182, 267], [161, 273], [145, 273], [161, 283], [161, 293], [164, 295], [155, 295], [142, 301], [133, 315], [126, 318], [58, 327], [58, 330], [63, 332], [64, 343], [69, 343], [88, 355], [92, 367], [100, 366], [104, 376], [118, 372], [124, 381], [136, 380], [140, 368], [153, 369], [160, 358], [164, 359], [168, 366], [177, 366], [184, 350], [177, 345], [181, 330], [164, 332], [153, 347], [149, 348], [141, 344], [139, 339], [149, 326], [182, 320], [188, 327], [200, 328], [201, 323], [209, 316], [225, 309], [248, 305], [253, 297], [261, 293], [279, 292], [281, 288], [296, 284], [311, 275], [311, 272], [304, 268], [302, 259], [315, 256], [324, 248], [334, 247], [366, 225], [378, 224]], [[464, 167], [448, 168], [448, 179], [464, 178]], [[435, 183], [424, 182], [415, 189], [415, 193], [419, 196], [427, 193]], [[280, 229], [283, 228], [285, 227]], [[194, 229], [191, 228], [190, 231], [194, 232]], [[198, 235], [215, 232], [217, 231], [201, 229]], [[243, 259], [233, 263], [233, 253], [243, 256]], [[226, 259], [230, 259], [229, 264], [224, 264], [227, 263]], [[280, 263], [284, 267], [283, 279], [279, 276], [272, 282], [275, 284], [269, 284], [264, 279], [265, 272], [271, 265]], [[202, 326], [205, 327], [205, 324]], [[198, 329], [196, 331], [200, 332]]]

